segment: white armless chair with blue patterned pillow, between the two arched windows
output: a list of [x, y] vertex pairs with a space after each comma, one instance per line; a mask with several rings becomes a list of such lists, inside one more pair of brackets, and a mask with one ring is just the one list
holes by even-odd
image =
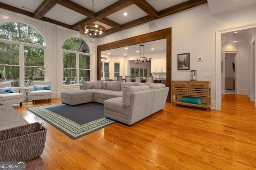
[[50, 90], [51, 82], [34, 81], [34, 90], [30, 92], [32, 103], [36, 100], [48, 99], [51, 102], [52, 91]]

